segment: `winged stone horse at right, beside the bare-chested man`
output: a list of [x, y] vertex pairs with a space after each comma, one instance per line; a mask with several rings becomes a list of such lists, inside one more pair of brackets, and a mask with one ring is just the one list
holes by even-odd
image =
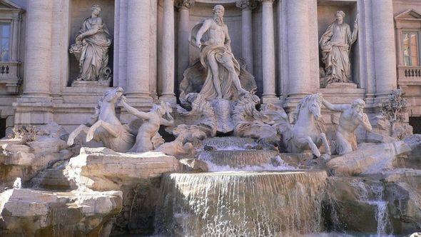
[[288, 152], [300, 153], [310, 149], [315, 156], [320, 157], [318, 148], [324, 144], [326, 153], [330, 155], [328, 139], [317, 124], [321, 118], [321, 105], [320, 94], [308, 95], [298, 103], [293, 114], [293, 125], [289, 123], [286, 114], [276, 119], [276, 126], [283, 135], [283, 143]]

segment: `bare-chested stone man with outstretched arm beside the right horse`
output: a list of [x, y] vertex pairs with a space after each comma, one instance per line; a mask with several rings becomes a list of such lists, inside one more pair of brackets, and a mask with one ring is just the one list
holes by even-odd
[[363, 113], [365, 102], [356, 99], [352, 104], [330, 104], [323, 99], [323, 105], [330, 111], [341, 112], [338, 127], [332, 141], [333, 153], [343, 155], [357, 150], [357, 137], [355, 129], [361, 124], [367, 131], [372, 127], [367, 114]]

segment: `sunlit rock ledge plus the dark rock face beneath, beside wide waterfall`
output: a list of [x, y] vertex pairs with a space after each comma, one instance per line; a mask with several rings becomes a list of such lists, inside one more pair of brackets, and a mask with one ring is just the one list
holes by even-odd
[[161, 176], [179, 170], [178, 160], [161, 152], [81, 148], [81, 153], [70, 159], [64, 175], [79, 190], [123, 192], [123, 208], [113, 233], [151, 233]]

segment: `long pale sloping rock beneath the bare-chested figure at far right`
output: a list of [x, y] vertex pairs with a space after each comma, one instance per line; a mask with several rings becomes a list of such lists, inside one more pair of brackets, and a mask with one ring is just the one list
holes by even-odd
[[333, 158], [327, 163], [335, 174], [351, 176], [359, 174], [380, 173], [393, 168], [400, 156], [411, 151], [403, 141], [393, 143], [362, 143], [357, 151]]

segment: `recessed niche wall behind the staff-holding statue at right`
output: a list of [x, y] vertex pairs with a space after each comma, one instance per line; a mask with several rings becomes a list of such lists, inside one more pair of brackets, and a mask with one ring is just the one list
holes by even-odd
[[[335, 21], [336, 11], [343, 11], [345, 13], [344, 22], [350, 25], [351, 31], [354, 29], [355, 17], [357, 17], [357, 0], [319, 0], [318, 1], [318, 41], [325, 33], [328, 26]], [[362, 29], [361, 21], [358, 24], [358, 37], [351, 46], [350, 62], [351, 62], [351, 80], [360, 88], [360, 59], [359, 59], [359, 39]], [[322, 62], [322, 53], [319, 45], [319, 67], [323, 68], [325, 65]]]

